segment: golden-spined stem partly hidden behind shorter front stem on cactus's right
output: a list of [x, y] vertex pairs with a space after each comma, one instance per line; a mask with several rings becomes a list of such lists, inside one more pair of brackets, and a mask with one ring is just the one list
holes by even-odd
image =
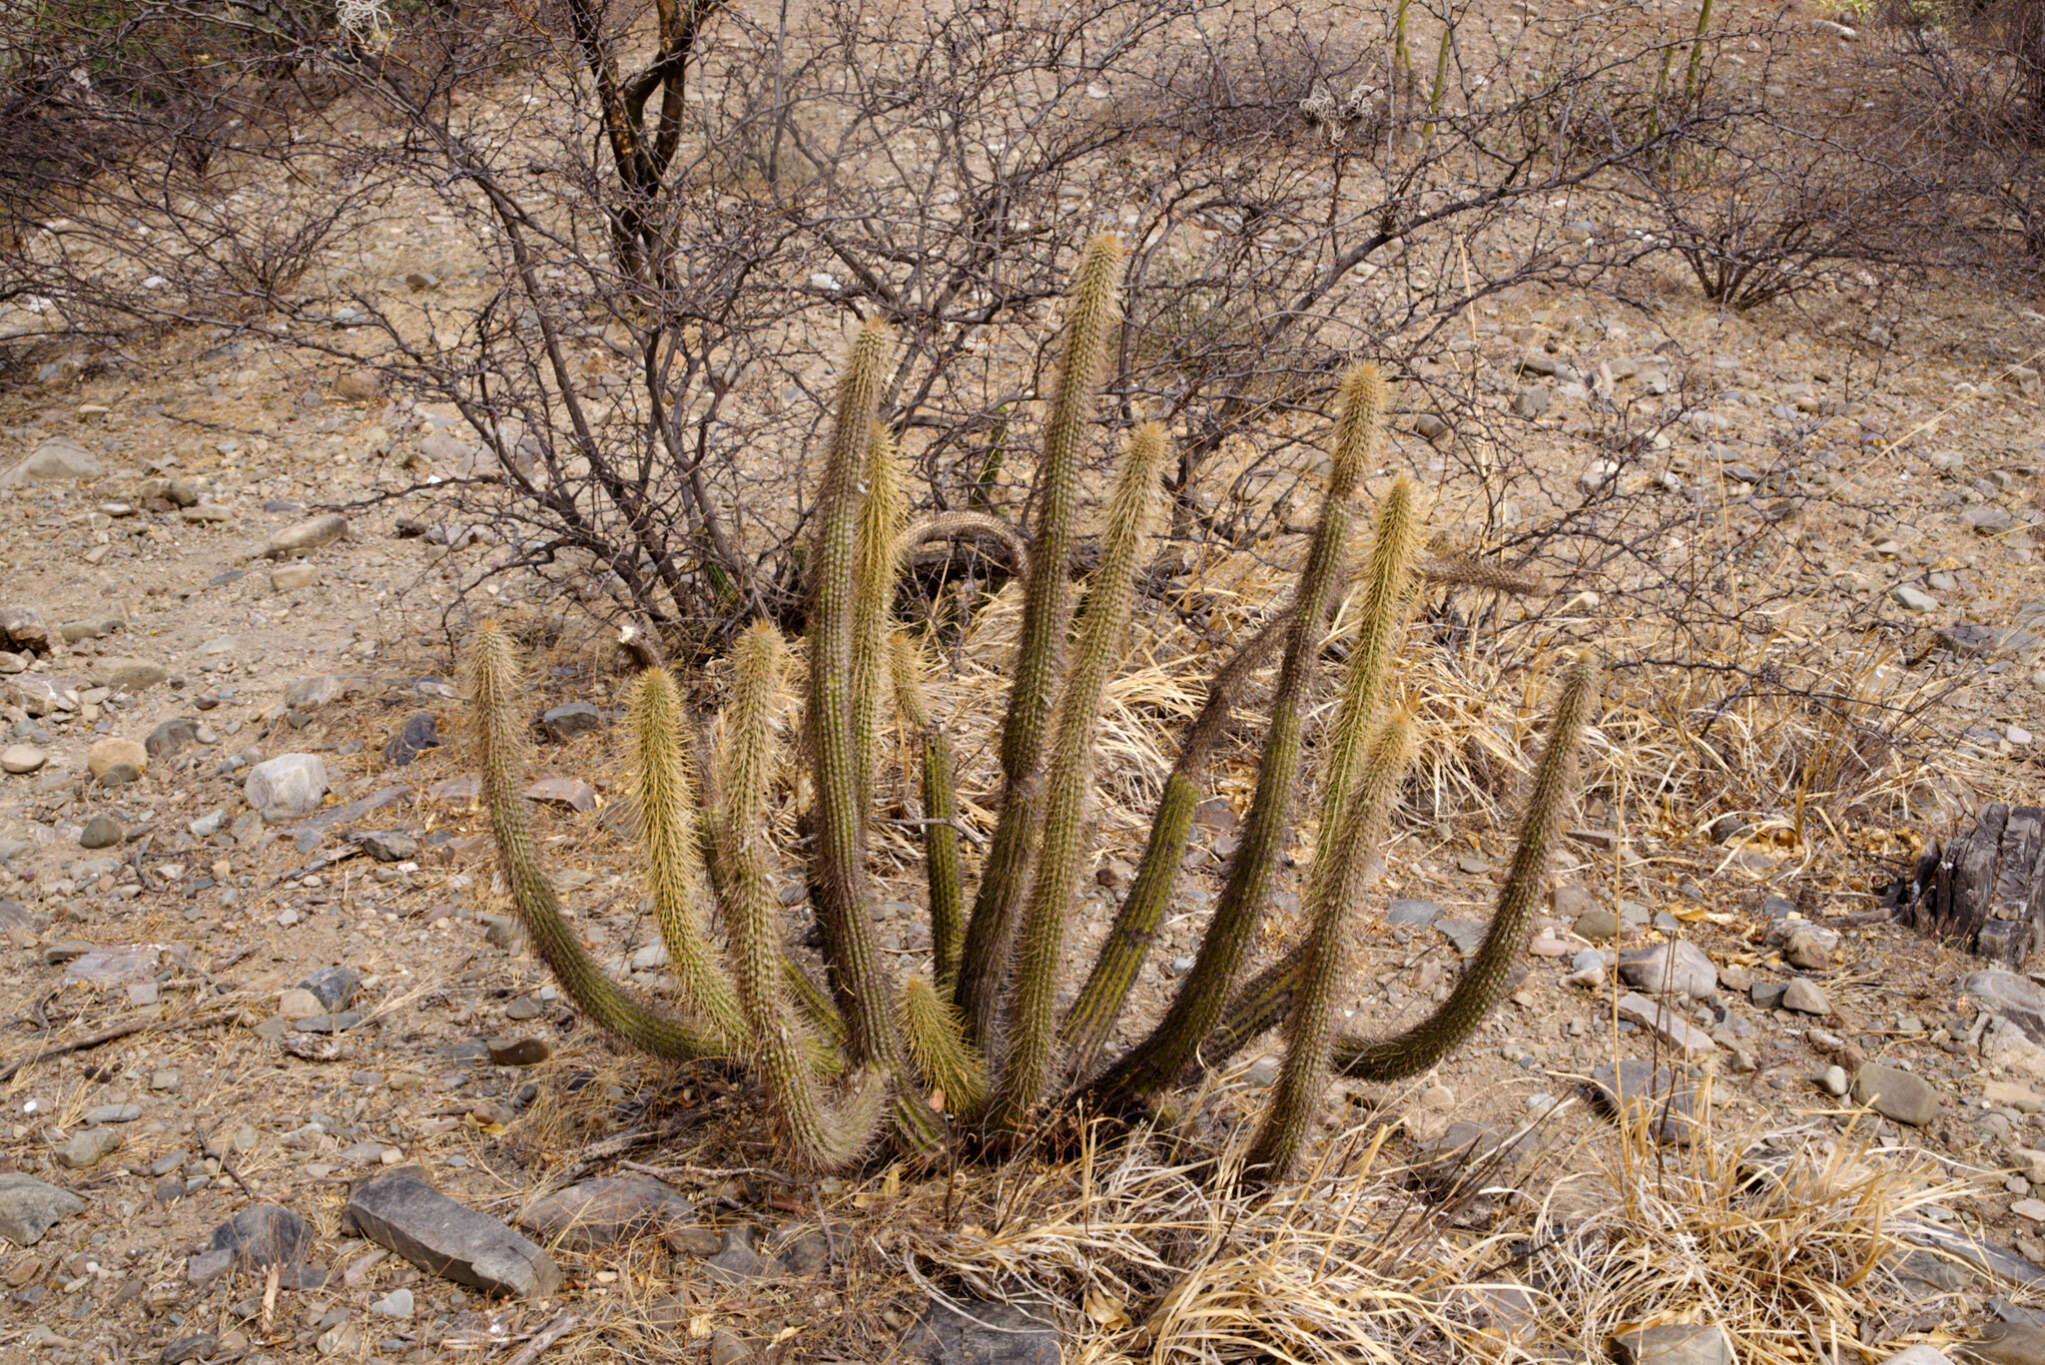
[[1327, 737], [1327, 759], [1321, 767], [1321, 831], [1315, 837], [1313, 872], [1307, 905], [1323, 900], [1323, 880], [1342, 864], [1337, 843], [1348, 829], [1348, 808], [1358, 782], [1364, 741], [1376, 731], [1382, 710], [1384, 679], [1391, 675], [1393, 653], [1407, 618], [1409, 573], [1415, 536], [1413, 485], [1401, 475], [1378, 503], [1376, 534], [1364, 565], [1356, 649], [1335, 706], [1335, 724]]

